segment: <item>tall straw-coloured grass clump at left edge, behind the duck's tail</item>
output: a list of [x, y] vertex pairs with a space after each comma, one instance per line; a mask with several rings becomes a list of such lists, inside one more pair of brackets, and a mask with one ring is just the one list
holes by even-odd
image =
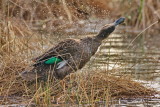
[[43, 51], [43, 43], [43, 38], [19, 19], [4, 18], [0, 22], [0, 96], [7, 97], [16, 91], [22, 95], [20, 92], [24, 92], [26, 86], [19, 73], [30, 64], [36, 50]]

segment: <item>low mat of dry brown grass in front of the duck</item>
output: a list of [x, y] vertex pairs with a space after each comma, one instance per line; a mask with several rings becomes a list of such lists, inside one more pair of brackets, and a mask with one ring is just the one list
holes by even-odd
[[64, 80], [26, 83], [18, 76], [18, 72], [22, 70], [23, 68], [15, 72], [4, 72], [0, 80], [2, 96], [25, 96], [29, 98], [28, 104], [35, 102], [39, 105], [50, 105], [55, 102], [95, 104], [99, 101], [109, 102], [113, 98], [145, 98], [156, 93], [131, 79], [109, 75], [108, 71], [79, 72], [67, 76]]

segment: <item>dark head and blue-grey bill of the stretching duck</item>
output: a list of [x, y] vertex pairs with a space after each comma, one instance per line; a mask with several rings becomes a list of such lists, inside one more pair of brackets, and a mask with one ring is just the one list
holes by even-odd
[[116, 26], [123, 23], [124, 20], [125, 18], [119, 18], [114, 23], [105, 25], [96, 36], [97, 39], [103, 40], [107, 38], [115, 30]]

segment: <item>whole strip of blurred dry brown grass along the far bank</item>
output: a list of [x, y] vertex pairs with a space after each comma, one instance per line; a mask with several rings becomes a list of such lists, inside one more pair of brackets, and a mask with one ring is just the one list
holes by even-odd
[[[126, 24], [135, 30], [145, 29], [160, 19], [159, 0], [2, 0], [0, 4], [0, 13], [6, 17], [16, 17], [31, 29], [49, 32], [90, 17], [115, 19], [124, 16]], [[152, 28], [158, 32], [159, 24]], [[149, 32], [155, 32], [152, 28]]]

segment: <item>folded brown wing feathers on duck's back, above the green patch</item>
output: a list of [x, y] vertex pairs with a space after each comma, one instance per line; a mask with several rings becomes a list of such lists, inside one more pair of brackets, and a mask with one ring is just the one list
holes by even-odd
[[33, 59], [34, 65], [42, 63], [52, 57], [61, 58], [62, 60], [67, 60], [69, 57], [73, 56], [76, 51], [78, 51], [79, 40], [76, 39], [66, 39], [58, 43], [53, 48], [49, 49], [44, 54]]

